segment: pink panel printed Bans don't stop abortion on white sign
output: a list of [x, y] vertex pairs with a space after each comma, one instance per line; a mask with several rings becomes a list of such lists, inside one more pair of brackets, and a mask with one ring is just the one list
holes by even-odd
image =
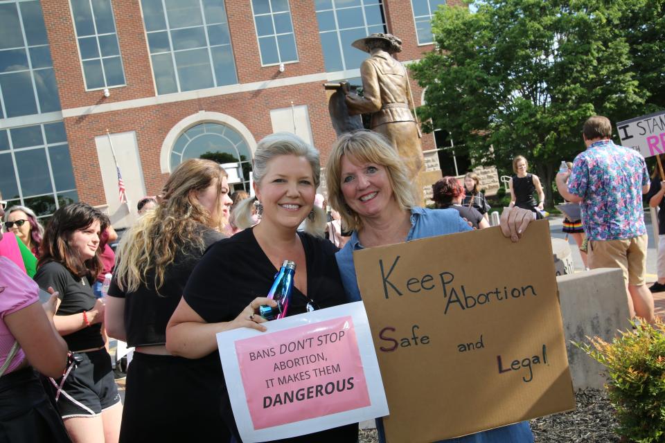
[[370, 405], [351, 316], [236, 341], [255, 429]]

